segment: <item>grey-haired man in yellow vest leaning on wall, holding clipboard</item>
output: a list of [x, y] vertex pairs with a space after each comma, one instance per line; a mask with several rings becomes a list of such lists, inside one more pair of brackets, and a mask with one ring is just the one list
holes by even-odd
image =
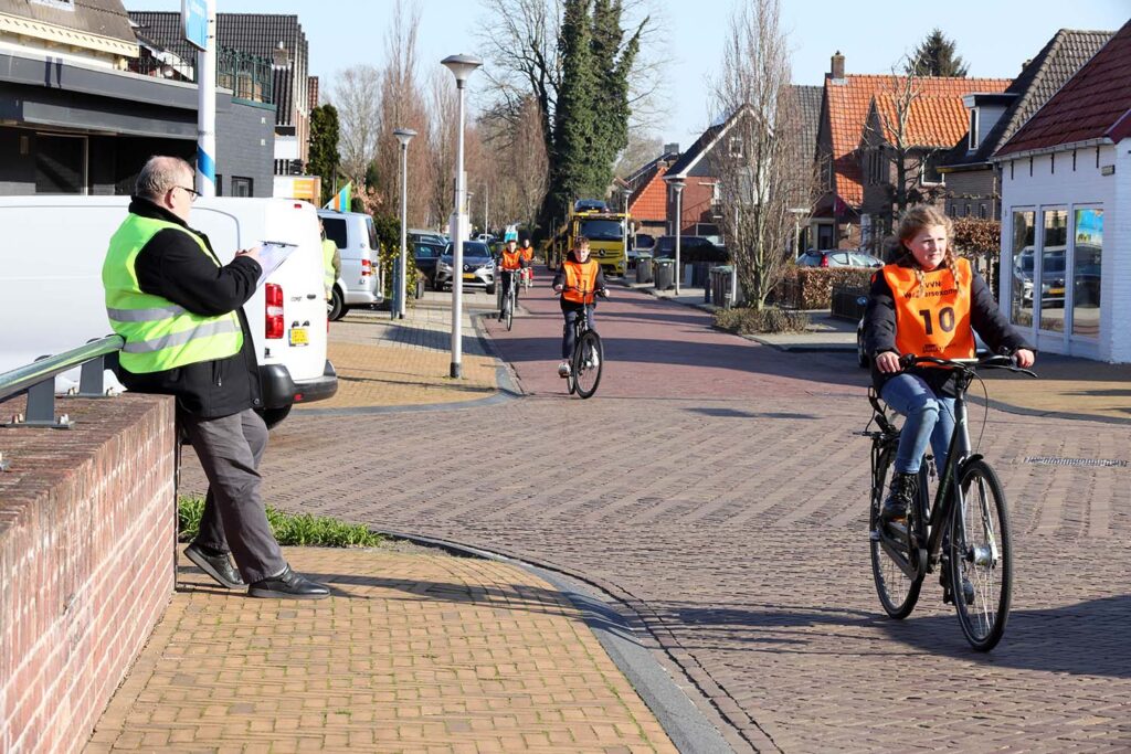
[[[318, 599], [329, 589], [291, 570], [267, 522], [259, 461], [267, 427], [259, 367], [242, 305], [262, 268], [258, 249], [221, 265], [188, 225], [192, 166], [150, 157], [102, 267], [106, 314], [126, 345], [119, 379], [135, 392], [176, 397], [176, 421], [205, 475], [200, 530], [185, 556], [251, 597]], [[239, 570], [232, 566], [235, 557]]]

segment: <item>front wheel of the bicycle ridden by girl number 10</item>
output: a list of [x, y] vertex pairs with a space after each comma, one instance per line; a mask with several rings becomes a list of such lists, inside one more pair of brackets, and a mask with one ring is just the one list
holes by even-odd
[[1005, 632], [1013, 591], [1009, 512], [998, 475], [977, 460], [962, 470], [962, 504], [950, 520], [950, 593], [958, 623], [979, 652], [993, 649]]

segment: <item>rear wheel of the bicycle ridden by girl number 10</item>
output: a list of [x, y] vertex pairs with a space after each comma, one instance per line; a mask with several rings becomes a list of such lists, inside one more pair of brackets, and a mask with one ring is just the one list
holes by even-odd
[[[908, 552], [906, 544], [897, 544], [886, 537], [882, 531], [880, 511], [883, 509], [883, 496], [895, 473], [895, 449], [886, 450], [877, 463], [875, 477], [872, 479], [872, 504], [869, 512], [870, 549], [872, 555], [872, 579], [875, 581], [875, 593], [880, 605], [888, 616], [897, 621], [906, 618], [918, 603], [920, 590], [923, 588], [924, 572], [916, 569], [917, 552]], [[907, 530], [914, 531], [917, 506], [907, 511]], [[908, 574], [910, 571], [913, 575]]]

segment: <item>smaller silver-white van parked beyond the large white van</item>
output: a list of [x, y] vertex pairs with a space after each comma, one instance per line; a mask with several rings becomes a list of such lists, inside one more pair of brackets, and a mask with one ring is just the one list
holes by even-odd
[[334, 285], [330, 319], [337, 321], [355, 306], [372, 306], [385, 301], [385, 275], [380, 242], [373, 218], [364, 213], [319, 209], [318, 217], [342, 254], [342, 276]]

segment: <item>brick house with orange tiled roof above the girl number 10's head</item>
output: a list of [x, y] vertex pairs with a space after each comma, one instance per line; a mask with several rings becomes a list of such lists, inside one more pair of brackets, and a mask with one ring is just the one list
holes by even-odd
[[[939, 164], [955, 140], [968, 127], [966, 96], [999, 96], [1009, 79], [924, 77], [908, 81], [887, 77], [872, 96], [858, 151], [863, 179], [860, 203], [860, 245], [880, 255], [880, 244], [891, 234], [896, 217], [896, 193], [900, 158], [895, 123], [905, 113], [903, 132], [903, 187], [907, 205], [934, 203], [942, 208], [946, 177]], [[914, 94], [899, 92], [910, 84]], [[974, 94], [977, 93], [977, 94]]]

